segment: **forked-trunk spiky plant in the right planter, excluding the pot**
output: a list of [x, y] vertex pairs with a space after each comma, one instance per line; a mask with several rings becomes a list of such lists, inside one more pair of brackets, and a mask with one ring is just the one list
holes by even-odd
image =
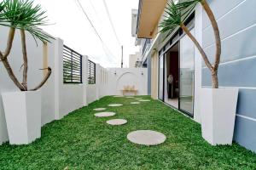
[[[201, 47], [200, 43], [191, 34], [188, 27], [184, 25], [184, 20], [189, 16], [191, 11], [195, 8], [197, 3], [201, 3], [202, 7], [207, 13], [209, 20], [214, 31], [216, 52], [215, 61], [212, 65], [205, 53], [204, 49]], [[209, 7], [206, 0], [187, 0], [183, 3], [171, 3], [168, 4], [166, 8], [166, 19], [160, 23], [161, 32], [173, 31], [177, 26], [180, 26], [183, 31], [189, 36], [189, 38], [195, 43], [195, 47], [198, 48], [201, 53], [202, 59], [206, 63], [208, 69], [212, 72], [212, 88], [218, 88], [218, 65], [220, 62], [221, 55], [221, 40], [219, 36], [218, 24], [215, 20], [212, 9]]]

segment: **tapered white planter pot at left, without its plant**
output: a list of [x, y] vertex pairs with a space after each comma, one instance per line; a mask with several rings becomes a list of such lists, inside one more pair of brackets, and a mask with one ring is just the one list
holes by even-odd
[[41, 93], [3, 93], [9, 144], [29, 144], [41, 137]]

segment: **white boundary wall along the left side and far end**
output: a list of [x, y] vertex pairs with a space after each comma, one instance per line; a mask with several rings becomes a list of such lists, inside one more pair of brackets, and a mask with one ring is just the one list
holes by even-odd
[[[0, 27], [0, 50], [5, 48], [8, 29]], [[88, 57], [82, 59], [83, 83], [67, 84], [63, 83], [63, 41], [56, 38], [48, 44], [38, 42], [38, 46], [33, 38], [26, 34], [27, 54], [28, 54], [28, 87], [34, 87], [44, 77], [44, 71], [39, 69], [50, 66], [52, 75], [48, 82], [40, 90], [42, 91], [42, 123], [60, 120], [71, 111], [75, 111], [91, 102], [107, 95], [119, 95], [122, 86], [132, 85], [138, 90], [138, 95], [147, 95], [147, 69], [106, 69], [96, 64], [96, 84], [87, 83], [87, 62]], [[15, 40], [9, 63], [15, 75], [21, 79], [22, 63], [20, 46], [20, 32], [16, 32]], [[0, 92], [19, 91], [14, 83], [9, 79], [3, 64], [0, 63]], [[14, 105], [15, 106], [15, 105]], [[3, 110], [3, 100], [0, 97], [0, 144], [8, 141], [8, 132]]]

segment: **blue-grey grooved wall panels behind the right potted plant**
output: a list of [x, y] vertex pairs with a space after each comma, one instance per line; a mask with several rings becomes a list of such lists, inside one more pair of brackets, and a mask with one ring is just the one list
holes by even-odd
[[[219, 86], [239, 88], [234, 140], [256, 151], [256, 1], [209, 0], [222, 39]], [[203, 48], [212, 60], [212, 27], [203, 14]], [[211, 86], [211, 75], [202, 68], [202, 86]]]

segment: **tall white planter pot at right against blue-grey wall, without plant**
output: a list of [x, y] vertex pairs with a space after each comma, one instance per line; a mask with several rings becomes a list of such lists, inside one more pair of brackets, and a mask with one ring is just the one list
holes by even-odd
[[237, 88], [201, 89], [201, 131], [208, 143], [232, 144], [237, 98]]

